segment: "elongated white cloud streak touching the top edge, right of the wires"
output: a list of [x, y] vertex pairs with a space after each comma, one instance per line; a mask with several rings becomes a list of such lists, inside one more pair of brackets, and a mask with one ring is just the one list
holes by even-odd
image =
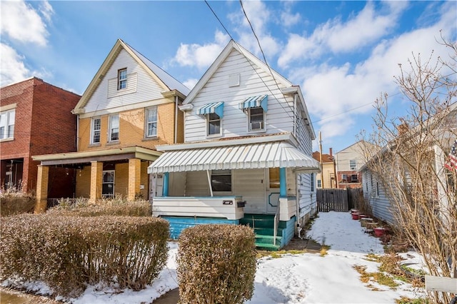
[[332, 51], [353, 51], [377, 41], [396, 26], [405, 4], [386, 4], [388, 14], [378, 14], [374, 4], [368, 2], [358, 14], [346, 22], [331, 19], [316, 27], [311, 36], [290, 34], [278, 65], [286, 68], [291, 61], [315, 58]]

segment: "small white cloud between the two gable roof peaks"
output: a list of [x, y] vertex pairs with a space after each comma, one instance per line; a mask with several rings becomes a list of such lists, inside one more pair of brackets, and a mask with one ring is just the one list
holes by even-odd
[[216, 31], [214, 42], [209, 44], [181, 44], [172, 63], [176, 62], [180, 66], [196, 66], [199, 69], [207, 68], [229, 43], [229, 39], [228, 35]]

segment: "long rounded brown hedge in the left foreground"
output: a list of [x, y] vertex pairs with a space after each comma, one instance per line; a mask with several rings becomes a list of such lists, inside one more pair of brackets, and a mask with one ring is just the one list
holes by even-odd
[[65, 296], [97, 283], [140, 290], [164, 267], [168, 236], [159, 218], [11, 216], [1, 221], [0, 279], [42, 280]]

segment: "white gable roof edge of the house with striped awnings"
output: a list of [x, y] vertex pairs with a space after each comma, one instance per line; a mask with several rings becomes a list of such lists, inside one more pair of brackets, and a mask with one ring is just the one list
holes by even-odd
[[249, 61], [252, 61], [253, 64], [258, 66], [258, 68], [262, 69], [266, 74], [271, 75], [273, 74], [273, 77], [278, 81], [279, 83], [282, 83], [284, 86], [292, 86], [292, 83], [288, 81], [286, 78], [281, 76], [281, 74], [278, 74], [276, 71], [273, 71], [273, 69], [268, 69], [268, 66], [263, 63], [260, 59], [258, 59], [256, 56], [251, 54], [248, 50], [244, 49], [243, 46], [240, 46], [237, 44], [235, 41], [231, 40], [229, 44], [226, 45], [224, 50], [221, 51], [221, 54], [217, 56], [216, 60], [211, 64], [211, 66], [206, 70], [205, 74], [200, 78], [199, 82], [196, 83], [194, 88], [192, 88], [191, 92], [189, 95], [187, 95], [186, 99], [184, 100], [183, 104], [191, 103], [192, 100], [196, 97], [197, 93], [201, 91], [201, 89], [206, 85], [206, 83], [211, 79], [213, 74], [219, 69], [221, 64], [224, 63], [224, 61], [227, 59], [227, 57], [230, 55], [231, 51], [236, 50], [240, 54], [242, 54], [246, 59]]

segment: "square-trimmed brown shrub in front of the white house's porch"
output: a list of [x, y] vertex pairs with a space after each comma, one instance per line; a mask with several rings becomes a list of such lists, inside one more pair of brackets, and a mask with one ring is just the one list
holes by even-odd
[[235, 304], [252, 298], [256, 245], [248, 226], [186, 228], [177, 262], [179, 303]]

